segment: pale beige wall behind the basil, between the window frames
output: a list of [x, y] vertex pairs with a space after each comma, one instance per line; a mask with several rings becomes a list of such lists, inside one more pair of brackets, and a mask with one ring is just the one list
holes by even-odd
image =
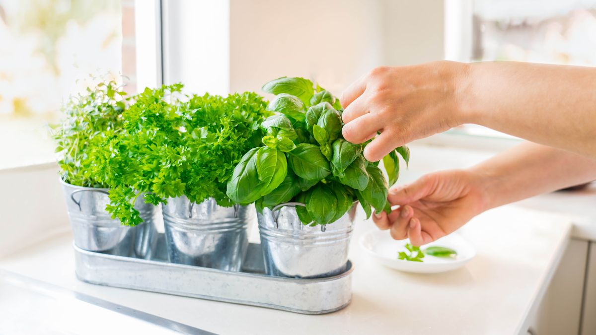
[[339, 95], [375, 66], [442, 58], [442, 0], [230, 0], [231, 92], [303, 76]]

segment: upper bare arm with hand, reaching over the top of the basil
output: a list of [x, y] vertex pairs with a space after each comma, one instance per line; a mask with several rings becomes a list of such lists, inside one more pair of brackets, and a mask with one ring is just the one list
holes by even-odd
[[477, 123], [596, 158], [596, 69], [449, 61], [379, 67], [342, 95], [343, 135], [368, 160], [393, 148]]

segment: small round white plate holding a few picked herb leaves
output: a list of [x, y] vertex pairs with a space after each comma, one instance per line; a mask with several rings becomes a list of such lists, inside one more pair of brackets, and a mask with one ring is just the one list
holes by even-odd
[[425, 244], [421, 249], [430, 246], [448, 247], [455, 252], [455, 258], [437, 258], [425, 255], [423, 262], [398, 259], [398, 252], [405, 250], [409, 240], [396, 241], [391, 238], [389, 231], [373, 230], [360, 238], [362, 249], [378, 262], [393, 269], [420, 274], [433, 274], [460, 268], [476, 256], [474, 247], [457, 234], [450, 234], [432, 243]]

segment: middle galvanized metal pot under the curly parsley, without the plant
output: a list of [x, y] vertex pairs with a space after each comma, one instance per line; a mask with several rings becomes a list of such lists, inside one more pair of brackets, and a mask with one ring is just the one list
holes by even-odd
[[168, 199], [162, 210], [170, 262], [242, 269], [253, 205], [222, 207], [213, 198], [197, 204], [182, 196]]

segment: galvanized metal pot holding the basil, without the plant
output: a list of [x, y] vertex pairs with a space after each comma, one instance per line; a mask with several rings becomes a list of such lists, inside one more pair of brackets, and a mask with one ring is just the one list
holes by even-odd
[[315, 227], [300, 222], [295, 206], [305, 205], [280, 204], [257, 213], [266, 274], [322, 278], [346, 271], [356, 206], [336, 222]]

